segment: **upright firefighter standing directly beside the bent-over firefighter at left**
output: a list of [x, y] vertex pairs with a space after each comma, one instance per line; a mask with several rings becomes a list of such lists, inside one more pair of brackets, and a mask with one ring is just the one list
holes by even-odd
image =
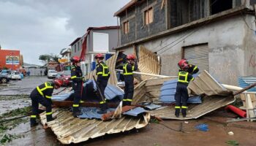
[[71, 80], [72, 80], [72, 89], [74, 93], [72, 96], [74, 97], [72, 111], [73, 116], [77, 117], [78, 115], [82, 115], [82, 112], [79, 110], [79, 104], [82, 99], [82, 91], [83, 91], [83, 72], [80, 68], [80, 58], [78, 56], [74, 56], [70, 59], [72, 62], [71, 66]]

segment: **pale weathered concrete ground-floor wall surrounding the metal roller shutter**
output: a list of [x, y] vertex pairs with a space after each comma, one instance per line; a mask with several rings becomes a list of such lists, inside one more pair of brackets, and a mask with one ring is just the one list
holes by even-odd
[[[252, 29], [255, 28], [254, 20], [255, 16], [246, 15], [246, 22]], [[178, 39], [192, 31], [195, 32], [186, 39], [182, 41]], [[241, 15], [170, 34], [168, 37], [151, 40], [141, 45], [160, 55], [161, 74], [176, 75], [182, 47], [202, 43], [208, 43], [209, 72], [219, 82], [237, 85], [238, 77], [256, 75], [256, 50], [254, 49], [256, 38], [254, 31], [247, 28]], [[131, 47], [127, 52], [130, 51], [132, 51]]]

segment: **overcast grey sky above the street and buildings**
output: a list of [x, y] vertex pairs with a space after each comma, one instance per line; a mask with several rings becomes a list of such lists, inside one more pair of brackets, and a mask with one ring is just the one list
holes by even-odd
[[57, 54], [91, 26], [116, 26], [113, 13], [130, 0], [0, 0], [0, 45], [23, 60]]

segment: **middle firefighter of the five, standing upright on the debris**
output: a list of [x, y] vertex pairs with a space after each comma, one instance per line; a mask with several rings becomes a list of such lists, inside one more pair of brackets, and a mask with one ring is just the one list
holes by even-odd
[[102, 97], [103, 99], [99, 98], [100, 110], [98, 111], [98, 113], [104, 114], [108, 110], [108, 104], [106, 103], [104, 92], [105, 92], [105, 88], [108, 85], [110, 72], [109, 72], [108, 66], [103, 62], [104, 56], [101, 53], [98, 53], [97, 55], [95, 55], [95, 59], [97, 60], [96, 74], [97, 74], [97, 83], [99, 85], [98, 90], [102, 93], [102, 96], [103, 96]]

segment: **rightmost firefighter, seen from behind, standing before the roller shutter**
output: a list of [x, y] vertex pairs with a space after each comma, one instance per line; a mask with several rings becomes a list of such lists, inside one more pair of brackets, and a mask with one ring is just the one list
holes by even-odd
[[181, 110], [182, 116], [185, 118], [187, 115], [187, 100], [189, 99], [187, 85], [189, 85], [190, 80], [194, 80], [194, 77], [188, 72], [188, 64], [178, 64], [178, 66], [180, 67], [180, 70], [178, 72], [178, 82], [175, 94], [175, 115], [178, 118], [179, 112]]

